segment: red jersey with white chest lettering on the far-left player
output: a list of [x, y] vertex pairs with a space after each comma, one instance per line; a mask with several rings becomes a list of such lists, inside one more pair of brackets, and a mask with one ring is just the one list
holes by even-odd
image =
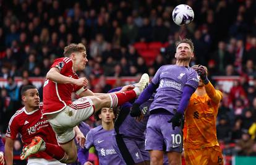
[[[41, 137], [45, 142], [58, 145], [56, 134], [51, 128], [48, 119], [41, 119], [41, 114], [41, 107], [40, 109], [32, 112], [27, 112], [25, 107], [16, 111], [9, 121], [6, 137], [15, 140], [19, 133], [24, 147], [29, 145], [34, 137]], [[48, 160], [53, 159], [43, 151], [32, 154], [31, 157], [44, 158]]]

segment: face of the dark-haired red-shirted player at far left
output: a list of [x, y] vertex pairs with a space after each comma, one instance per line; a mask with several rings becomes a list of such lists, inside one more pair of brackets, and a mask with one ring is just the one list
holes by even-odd
[[38, 108], [40, 103], [39, 93], [37, 89], [30, 89], [25, 91], [22, 96], [22, 101], [30, 108]]

